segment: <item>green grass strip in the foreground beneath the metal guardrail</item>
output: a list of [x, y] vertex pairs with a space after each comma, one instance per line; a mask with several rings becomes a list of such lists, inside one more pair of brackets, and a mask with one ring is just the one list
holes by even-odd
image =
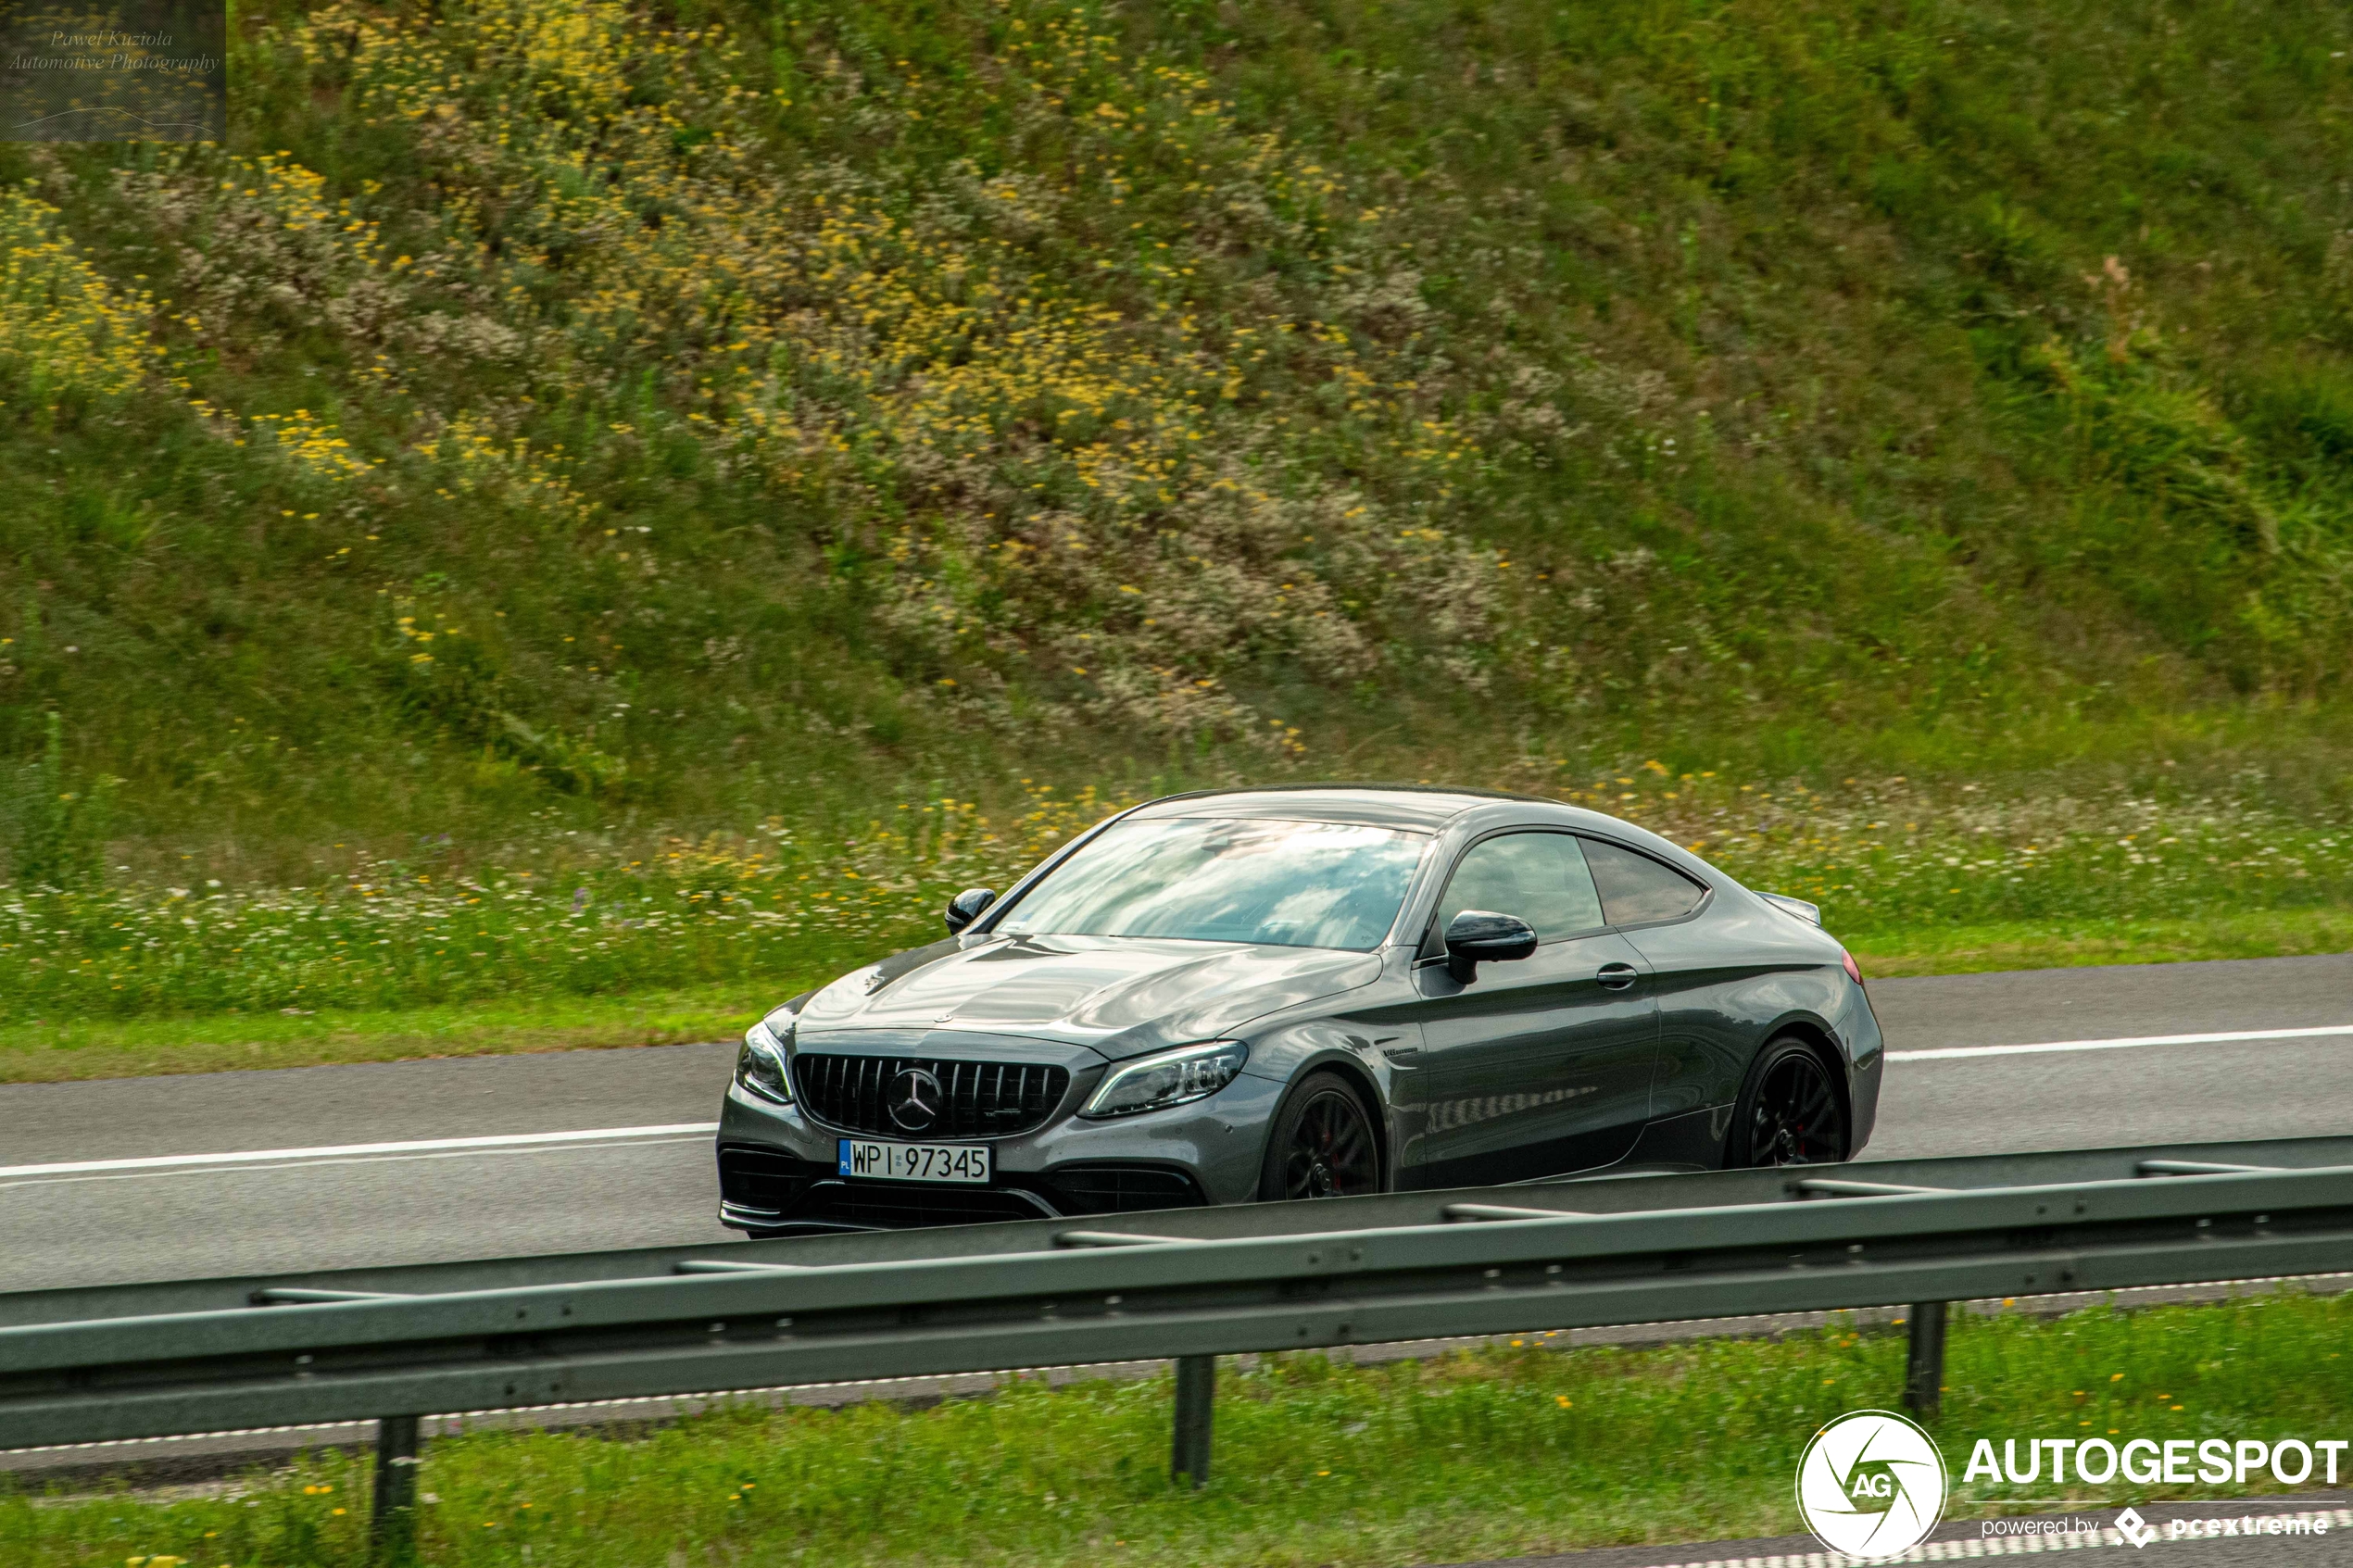
[[[2353, 1305], [2275, 1295], [2219, 1307], [1962, 1316], [1944, 1420], [1948, 1516], [2047, 1500], [1960, 1483], [1979, 1436], [2315, 1439], [2353, 1420], [2339, 1359]], [[424, 1561], [1388, 1566], [1617, 1542], [1798, 1530], [1791, 1476], [1814, 1427], [1885, 1406], [1904, 1340], [1515, 1349], [1344, 1368], [1268, 1359], [1219, 1385], [1205, 1493], [1167, 1481], [1169, 1385], [1014, 1385], [929, 1410], [725, 1408], [645, 1434], [480, 1432], [428, 1443]], [[1694, 1443], [1694, 1434], [1711, 1441]], [[24, 1568], [179, 1556], [308, 1568], [365, 1542], [365, 1455], [320, 1455], [221, 1497], [0, 1495]], [[2073, 1486], [2089, 1497], [2252, 1488]], [[2012, 1509], [2057, 1512], [2057, 1507]]]

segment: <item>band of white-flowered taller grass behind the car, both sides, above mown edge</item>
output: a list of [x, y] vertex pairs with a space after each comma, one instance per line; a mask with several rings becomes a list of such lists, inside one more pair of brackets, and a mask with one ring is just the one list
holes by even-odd
[[[1866, 947], [2005, 922], [2353, 905], [2353, 830], [2235, 797], [1993, 799], [1901, 778], [1826, 795], [1659, 762], [1553, 792], [1817, 900]], [[308, 886], [0, 886], [0, 1025], [800, 983], [934, 940], [951, 893], [1007, 886], [1122, 804], [1033, 788], [1009, 818], [908, 802], [842, 837], [779, 818], [699, 842], [553, 832], [487, 860], [454, 844], [351, 853]]]

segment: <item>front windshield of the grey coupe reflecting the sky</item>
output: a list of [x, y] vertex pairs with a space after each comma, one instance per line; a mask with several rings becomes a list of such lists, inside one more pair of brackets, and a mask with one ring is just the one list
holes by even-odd
[[1381, 945], [1428, 839], [1353, 823], [1113, 823], [1024, 893], [1005, 936]]

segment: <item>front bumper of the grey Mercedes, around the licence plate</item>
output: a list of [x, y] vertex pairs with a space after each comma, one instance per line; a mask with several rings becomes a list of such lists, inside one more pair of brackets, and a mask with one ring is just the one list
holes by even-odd
[[798, 1103], [774, 1105], [729, 1084], [718, 1133], [720, 1222], [748, 1232], [892, 1229], [1245, 1204], [1259, 1197], [1280, 1100], [1282, 1084], [1245, 1072], [1207, 1100], [1141, 1117], [1059, 1114], [1019, 1138], [944, 1140], [991, 1145], [993, 1178], [981, 1187], [840, 1175], [840, 1140], [873, 1133], [824, 1126]]

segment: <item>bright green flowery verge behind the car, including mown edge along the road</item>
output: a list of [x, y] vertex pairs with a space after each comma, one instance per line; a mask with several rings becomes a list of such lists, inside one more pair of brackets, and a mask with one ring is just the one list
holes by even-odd
[[[1551, 788], [1824, 903], [1873, 976], [2332, 952], [2353, 933], [2353, 830], [2249, 799], [1758, 790], [1657, 762]], [[725, 1039], [936, 938], [955, 889], [1005, 886], [1120, 802], [1028, 804], [901, 806], [840, 842], [772, 820], [642, 858], [569, 835], [529, 867], [435, 842], [353, 853], [325, 886], [19, 889], [0, 896], [0, 1081]]]

